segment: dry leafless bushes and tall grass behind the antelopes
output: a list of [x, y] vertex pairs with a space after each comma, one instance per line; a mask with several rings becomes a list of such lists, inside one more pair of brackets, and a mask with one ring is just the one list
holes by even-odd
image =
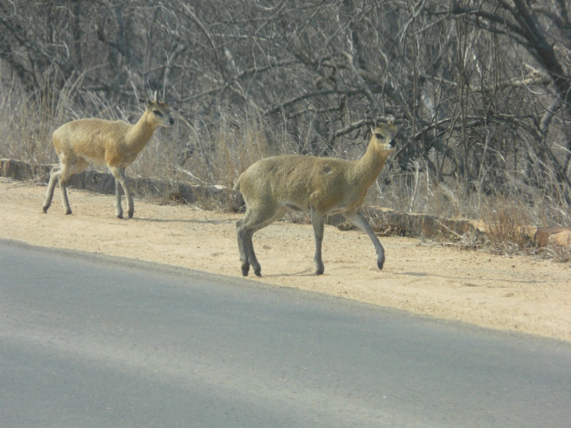
[[571, 225], [569, 28], [559, 0], [1, 2], [0, 156], [54, 163], [61, 123], [132, 122], [158, 90], [176, 125], [128, 175], [231, 188], [274, 154], [355, 158], [395, 115], [368, 205], [537, 253], [525, 226]]

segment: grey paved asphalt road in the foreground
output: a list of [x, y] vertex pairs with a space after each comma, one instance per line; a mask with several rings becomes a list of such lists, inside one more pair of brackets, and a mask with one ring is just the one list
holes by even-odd
[[0, 240], [0, 427], [569, 427], [571, 346]]

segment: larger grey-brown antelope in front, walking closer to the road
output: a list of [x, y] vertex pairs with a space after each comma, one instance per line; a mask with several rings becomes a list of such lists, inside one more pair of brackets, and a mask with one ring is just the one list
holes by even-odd
[[357, 161], [301, 155], [275, 156], [254, 163], [240, 175], [234, 188], [240, 189], [246, 201], [246, 215], [236, 221], [242, 275], [247, 276], [252, 265], [254, 273], [261, 276], [252, 236], [283, 217], [288, 210], [310, 213], [315, 235], [316, 275], [324, 271], [321, 243], [325, 218], [336, 213], [343, 214], [369, 235], [377, 251], [378, 268], [383, 269], [383, 245], [358, 208], [387, 157], [395, 151], [398, 129], [390, 122], [372, 131], [367, 151]]

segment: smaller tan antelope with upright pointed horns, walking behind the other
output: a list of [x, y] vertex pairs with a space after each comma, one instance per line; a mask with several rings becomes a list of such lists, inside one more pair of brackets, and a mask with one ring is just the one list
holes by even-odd
[[133, 218], [135, 205], [131, 191], [126, 183], [125, 168], [131, 165], [138, 153], [145, 148], [158, 126], [171, 126], [174, 123], [171, 109], [165, 103], [156, 99], [149, 101], [145, 113], [137, 123], [131, 125], [124, 121], [105, 121], [103, 119], [79, 119], [64, 123], [54, 131], [53, 139], [59, 165], [51, 169], [44, 213], [48, 212], [51, 200], [54, 198], [56, 179], [59, 181], [61, 203], [64, 213], [71, 214], [67, 198], [66, 181], [76, 173], [81, 173], [87, 165], [107, 165], [115, 177], [115, 213], [123, 218], [121, 207], [121, 190], [125, 192], [128, 206], [128, 216]]

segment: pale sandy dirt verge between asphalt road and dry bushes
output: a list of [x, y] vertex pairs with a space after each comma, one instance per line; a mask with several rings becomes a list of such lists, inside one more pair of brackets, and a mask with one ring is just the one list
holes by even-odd
[[[72, 215], [56, 190], [0, 179], [0, 238], [83, 250], [241, 277], [234, 222], [240, 214], [135, 200], [135, 217], [115, 217], [114, 197], [69, 189]], [[124, 201], [123, 208], [126, 210]], [[342, 296], [483, 327], [571, 341], [571, 266], [458, 250], [418, 239], [381, 238], [376, 267], [367, 235], [325, 226], [325, 275], [313, 275], [311, 225], [279, 221], [254, 235], [262, 277], [252, 281]]]

